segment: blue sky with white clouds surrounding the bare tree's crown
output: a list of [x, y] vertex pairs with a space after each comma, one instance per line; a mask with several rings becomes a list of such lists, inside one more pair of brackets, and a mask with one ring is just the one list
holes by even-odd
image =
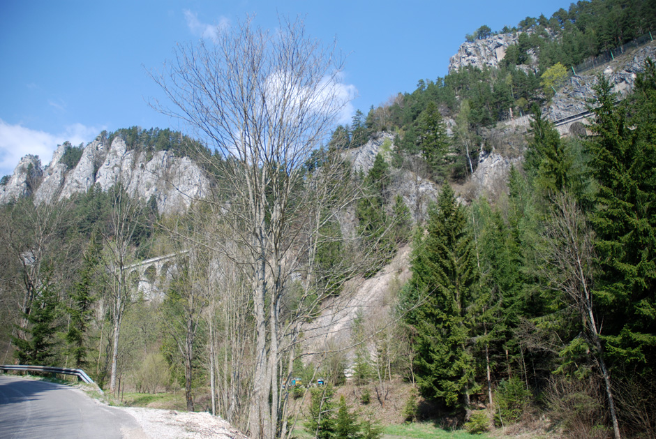
[[446, 75], [465, 34], [482, 24], [497, 31], [568, 7], [564, 0], [2, 0], [0, 175], [13, 172], [25, 154], [46, 164], [57, 144], [86, 144], [103, 129], [186, 131], [147, 104], [163, 97], [147, 70], [161, 68], [176, 43], [246, 14], [268, 29], [278, 16], [301, 15], [308, 35], [325, 43], [336, 38], [348, 54], [343, 82], [355, 96], [350, 112], [366, 113], [413, 91], [420, 78]]

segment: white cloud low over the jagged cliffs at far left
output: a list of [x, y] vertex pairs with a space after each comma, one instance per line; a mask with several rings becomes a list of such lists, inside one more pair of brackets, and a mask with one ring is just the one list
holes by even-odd
[[63, 133], [52, 134], [31, 130], [20, 124], [10, 125], [0, 119], [0, 174], [12, 174], [26, 154], [39, 156], [42, 165], [50, 163], [58, 144], [66, 140], [75, 146], [80, 143], [87, 144], [102, 130], [103, 128], [73, 124], [66, 126]]

